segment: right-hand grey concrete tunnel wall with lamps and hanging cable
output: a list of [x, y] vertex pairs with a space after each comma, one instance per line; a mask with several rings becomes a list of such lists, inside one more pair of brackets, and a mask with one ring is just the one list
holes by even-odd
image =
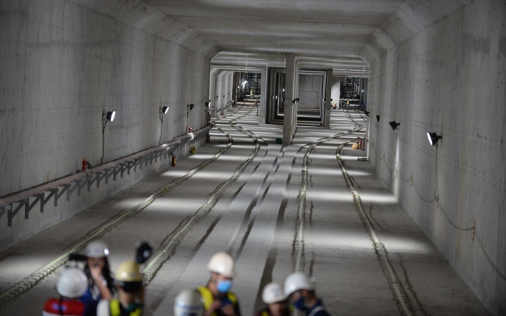
[[506, 314], [505, 17], [504, 1], [474, 1], [396, 45], [370, 64], [368, 104], [378, 176], [494, 315]]

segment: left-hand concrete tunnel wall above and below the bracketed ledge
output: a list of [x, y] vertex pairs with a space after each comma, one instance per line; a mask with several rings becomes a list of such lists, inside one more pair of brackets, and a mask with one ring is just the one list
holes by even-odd
[[[106, 163], [157, 146], [164, 105], [170, 109], [162, 143], [186, 134], [187, 123], [194, 130], [205, 125], [204, 53], [69, 1], [1, 1], [0, 16], [0, 197], [76, 173], [83, 157], [97, 166], [102, 155]], [[102, 116], [112, 109], [116, 119], [105, 128], [103, 152]], [[103, 186], [93, 198], [83, 194], [58, 209], [32, 211], [29, 220], [19, 214], [9, 229], [1, 213], [1, 246], [167, 165]]]

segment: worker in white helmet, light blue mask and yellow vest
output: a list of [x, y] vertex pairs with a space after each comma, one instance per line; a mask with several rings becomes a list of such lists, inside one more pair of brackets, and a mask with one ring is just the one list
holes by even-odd
[[218, 252], [211, 257], [207, 268], [211, 272], [211, 278], [207, 286], [197, 289], [204, 302], [204, 315], [241, 315], [237, 297], [230, 292], [234, 278], [234, 259], [226, 252]]

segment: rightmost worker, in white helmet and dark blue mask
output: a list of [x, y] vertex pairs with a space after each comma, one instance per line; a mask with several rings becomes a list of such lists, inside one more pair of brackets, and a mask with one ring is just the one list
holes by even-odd
[[306, 316], [328, 316], [322, 300], [315, 292], [314, 279], [309, 279], [304, 272], [293, 272], [286, 278], [285, 295], [289, 297], [293, 306], [304, 311]]

